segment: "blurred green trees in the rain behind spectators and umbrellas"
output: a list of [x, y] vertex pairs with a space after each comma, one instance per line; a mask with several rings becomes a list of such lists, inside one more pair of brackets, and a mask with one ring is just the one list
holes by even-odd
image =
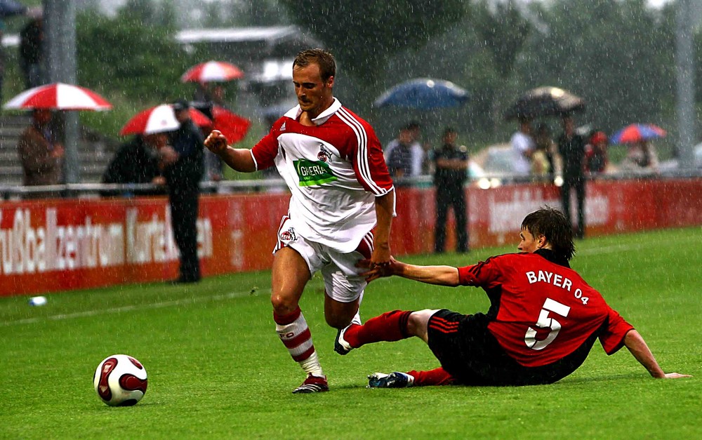
[[[84, 124], [117, 137], [138, 110], [192, 95], [192, 84], [180, 84], [180, 75], [217, 54], [185, 51], [176, 43], [183, 18], [175, 5], [129, 0], [112, 18], [90, 10], [79, 14], [79, 83], [115, 105], [112, 112], [81, 114]], [[417, 119], [429, 142], [437, 142], [437, 133], [450, 124], [477, 149], [508, 140], [515, 126], [501, 119], [502, 109], [523, 91], [544, 85], [585, 98], [580, 124], [607, 133], [634, 121], [674, 129], [674, 6], [653, 9], [645, 0], [213, 0], [195, 25], [296, 24], [336, 54], [337, 95], [371, 121], [383, 142], [400, 124]], [[699, 102], [700, 32], [694, 46]], [[385, 88], [422, 76], [455, 82], [468, 89], [470, 101], [437, 112], [372, 107]], [[6, 81], [5, 96], [20, 91], [19, 83]], [[559, 130], [557, 121], [547, 122]], [[663, 145], [673, 141], [669, 136]]]

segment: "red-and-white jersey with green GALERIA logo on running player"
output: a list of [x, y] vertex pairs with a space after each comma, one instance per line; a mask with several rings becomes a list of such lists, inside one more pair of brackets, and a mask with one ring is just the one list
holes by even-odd
[[373, 128], [334, 102], [303, 126], [300, 106], [251, 149], [256, 169], [275, 165], [292, 194], [294, 233], [348, 253], [376, 225], [375, 198], [393, 189]]

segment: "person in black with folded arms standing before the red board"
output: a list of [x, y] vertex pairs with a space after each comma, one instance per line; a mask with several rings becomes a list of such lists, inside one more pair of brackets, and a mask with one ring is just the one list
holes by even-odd
[[437, 218], [434, 234], [434, 252], [444, 252], [446, 239], [446, 214], [453, 208], [456, 218], [456, 251], [468, 252], [468, 228], [465, 219], [465, 189], [463, 182], [468, 175], [468, 149], [456, 145], [458, 133], [446, 128], [443, 145], [434, 152], [434, 186], [436, 188]]

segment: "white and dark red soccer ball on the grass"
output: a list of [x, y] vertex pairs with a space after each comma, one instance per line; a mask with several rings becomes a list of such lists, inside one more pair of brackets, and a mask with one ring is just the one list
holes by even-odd
[[100, 362], [93, 375], [98, 397], [110, 406], [132, 406], [146, 393], [146, 369], [132, 356], [113, 354]]

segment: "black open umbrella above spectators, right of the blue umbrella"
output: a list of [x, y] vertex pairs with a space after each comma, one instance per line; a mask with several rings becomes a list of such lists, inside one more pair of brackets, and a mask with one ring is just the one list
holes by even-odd
[[583, 98], [557, 87], [538, 87], [524, 93], [505, 111], [505, 119], [557, 116], [585, 109]]

